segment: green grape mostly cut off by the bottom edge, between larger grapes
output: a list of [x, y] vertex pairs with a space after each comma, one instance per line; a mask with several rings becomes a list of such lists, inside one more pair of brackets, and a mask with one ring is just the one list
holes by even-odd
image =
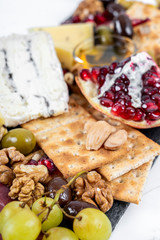
[[78, 240], [78, 237], [70, 229], [55, 227], [48, 230], [42, 240]]

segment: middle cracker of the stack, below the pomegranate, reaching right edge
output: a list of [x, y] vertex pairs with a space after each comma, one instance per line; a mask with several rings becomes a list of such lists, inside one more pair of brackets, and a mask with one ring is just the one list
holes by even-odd
[[112, 162], [98, 168], [108, 181], [138, 168], [142, 164], [153, 160], [160, 154], [160, 145], [147, 138], [138, 130], [112, 120], [95, 110], [81, 95], [73, 94], [72, 97], [81, 104], [96, 120], [105, 120], [118, 129], [125, 129], [128, 133], [127, 142], [117, 151], [110, 151]]

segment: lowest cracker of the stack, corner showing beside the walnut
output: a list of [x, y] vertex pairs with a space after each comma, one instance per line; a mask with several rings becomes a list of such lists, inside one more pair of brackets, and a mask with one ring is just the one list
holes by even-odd
[[108, 182], [114, 199], [138, 204], [153, 161]]

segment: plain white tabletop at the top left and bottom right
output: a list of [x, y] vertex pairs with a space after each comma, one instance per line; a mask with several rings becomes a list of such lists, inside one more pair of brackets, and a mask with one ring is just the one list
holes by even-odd
[[[70, 16], [78, 2], [0, 0], [0, 36], [25, 33], [35, 26], [57, 25]], [[130, 204], [110, 238], [122, 239], [160, 240], [160, 159], [150, 172], [141, 203]]]

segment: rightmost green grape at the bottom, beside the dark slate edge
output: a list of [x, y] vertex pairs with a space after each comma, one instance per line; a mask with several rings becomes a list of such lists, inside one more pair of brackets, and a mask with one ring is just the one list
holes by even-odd
[[94, 208], [85, 208], [76, 215], [73, 230], [81, 240], [108, 240], [112, 226], [103, 212]]

